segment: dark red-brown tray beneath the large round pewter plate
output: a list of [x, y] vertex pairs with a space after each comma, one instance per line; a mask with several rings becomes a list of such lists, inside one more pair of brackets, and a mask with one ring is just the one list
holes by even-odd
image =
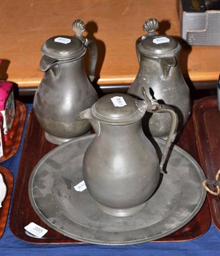
[[[178, 145], [189, 152], [196, 160], [198, 160], [198, 152], [194, 138], [193, 122], [190, 120], [185, 126], [184, 132]], [[28, 182], [31, 172], [40, 159], [50, 150], [55, 148], [45, 140], [44, 132], [38, 124], [33, 109], [30, 112], [28, 120], [28, 128], [24, 141], [24, 148], [19, 166], [19, 174], [15, 187], [15, 196], [13, 198], [12, 211], [10, 214], [10, 228], [15, 236], [29, 243], [81, 243], [65, 237], [52, 228], [49, 228], [37, 216], [28, 197]], [[30, 237], [26, 234], [24, 227], [31, 221], [49, 230], [43, 239]], [[190, 221], [185, 227], [177, 232], [159, 239], [159, 242], [166, 241], [187, 241], [203, 235], [210, 227], [210, 212], [207, 200], [196, 217]]]

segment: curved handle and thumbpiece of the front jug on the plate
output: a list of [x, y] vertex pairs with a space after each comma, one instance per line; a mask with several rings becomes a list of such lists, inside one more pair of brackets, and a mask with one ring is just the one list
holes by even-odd
[[169, 148], [171, 147], [172, 139], [173, 139], [173, 134], [175, 133], [177, 129], [177, 122], [178, 122], [178, 116], [177, 113], [171, 108], [171, 106], [164, 105], [164, 104], [159, 104], [157, 100], [154, 99], [149, 99], [146, 95], [145, 88], [142, 87], [142, 93], [145, 97], [146, 100], [146, 111], [150, 113], [169, 113], [171, 115], [171, 128], [169, 131], [168, 139], [166, 140], [164, 150], [162, 151], [162, 157], [161, 157], [161, 162], [160, 162], [160, 172], [164, 173], [164, 163], [166, 161], [166, 157], [168, 156]]

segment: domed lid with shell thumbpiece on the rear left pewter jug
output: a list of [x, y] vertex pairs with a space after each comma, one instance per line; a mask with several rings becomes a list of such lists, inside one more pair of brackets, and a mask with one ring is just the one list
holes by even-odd
[[86, 52], [84, 42], [86, 38], [82, 35], [84, 23], [82, 20], [75, 20], [72, 24], [75, 36], [53, 36], [42, 45], [42, 53], [57, 60], [71, 60], [83, 56]]

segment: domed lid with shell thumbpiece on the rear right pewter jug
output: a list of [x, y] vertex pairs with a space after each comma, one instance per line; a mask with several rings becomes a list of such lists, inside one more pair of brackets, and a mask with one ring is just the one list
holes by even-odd
[[148, 31], [148, 35], [142, 36], [138, 44], [139, 52], [145, 56], [169, 56], [180, 51], [181, 46], [172, 36], [155, 35], [155, 30], [159, 28], [157, 19], [149, 19], [143, 25], [143, 30]]

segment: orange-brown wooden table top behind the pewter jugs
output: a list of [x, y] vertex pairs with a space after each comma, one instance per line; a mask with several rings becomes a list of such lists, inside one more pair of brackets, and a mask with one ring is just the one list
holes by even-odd
[[159, 33], [182, 44], [184, 77], [217, 81], [220, 48], [182, 42], [175, 0], [0, 0], [0, 79], [38, 86], [42, 44], [51, 36], [73, 35], [72, 22], [82, 19], [85, 35], [98, 44], [98, 84], [130, 84], [139, 67], [136, 39], [145, 35], [143, 23], [152, 17], [160, 22]]

